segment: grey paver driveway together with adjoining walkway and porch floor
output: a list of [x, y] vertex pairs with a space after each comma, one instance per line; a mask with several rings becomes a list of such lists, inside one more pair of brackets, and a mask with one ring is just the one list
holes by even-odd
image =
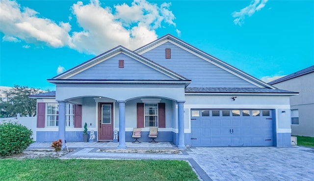
[[[45, 145], [46, 144], [46, 145]], [[29, 148], [49, 148], [51, 143], [34, 143]], [[68, 143], [76, 148], [61, 159], [179, 159], [188, 161], [204, 181], [312, 181], [314, 149], [293, 146], [189, 148], [179, 154], [104, 152], [116, 149], [117, 143]], [[132, 144], [127, 150], [178, 150], [169, 142]]]

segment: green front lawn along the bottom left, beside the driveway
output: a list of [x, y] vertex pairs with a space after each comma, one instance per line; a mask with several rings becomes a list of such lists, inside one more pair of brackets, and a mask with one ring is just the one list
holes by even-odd
[[0, 181], [198, 181], [182, 160], [0, 159]]

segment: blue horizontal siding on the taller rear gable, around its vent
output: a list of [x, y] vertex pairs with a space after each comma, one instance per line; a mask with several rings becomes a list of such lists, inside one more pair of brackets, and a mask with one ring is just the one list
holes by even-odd
[[[171, 48], [171, 59], [165, 58], [166, 48]], [[257, 86], [170, 42], [166, 42], [142, 56], [192, 80], [189, 87], [257, 88]]]

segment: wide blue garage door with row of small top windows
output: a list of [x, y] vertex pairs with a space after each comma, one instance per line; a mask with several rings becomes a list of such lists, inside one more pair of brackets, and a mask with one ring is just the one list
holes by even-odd
[[192, 109], [191, 146], [273, 146], [271, 110]]

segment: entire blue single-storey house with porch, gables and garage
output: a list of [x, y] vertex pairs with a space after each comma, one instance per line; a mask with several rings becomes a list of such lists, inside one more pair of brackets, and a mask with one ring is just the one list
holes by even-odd
[[113, 48], [48, 82], [56, 91], [37, 98], [37, 141], [82, 141], [82, 125], [118, 149], [134, 127], [149, 141], [184, 149], [290, 146], [289, 96], [275, 87], [167, 34], [131, 51]]

